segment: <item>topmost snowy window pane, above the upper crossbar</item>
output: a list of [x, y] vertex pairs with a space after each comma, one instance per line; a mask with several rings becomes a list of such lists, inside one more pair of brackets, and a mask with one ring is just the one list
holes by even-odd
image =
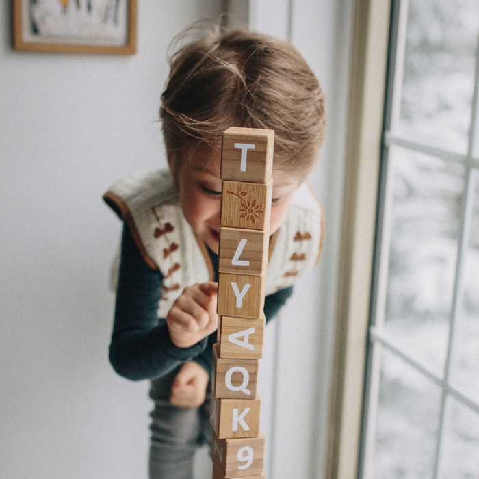
[[467, 152], [479, 4], [410, 0], [400, 135]]

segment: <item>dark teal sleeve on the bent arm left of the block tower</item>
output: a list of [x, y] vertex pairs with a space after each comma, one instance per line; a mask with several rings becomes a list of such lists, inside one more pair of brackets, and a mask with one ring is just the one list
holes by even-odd
[[109, 346], [109, 361], [125, 378], [142, 380], [164, 376], [179, 364], [202, 354], [207, 347], [209, 338], [190, 348], [178, 348], [172, 343], [166, 320], [157, 317], [162, 284], [161, 272], [146, 264], [125, 224]]

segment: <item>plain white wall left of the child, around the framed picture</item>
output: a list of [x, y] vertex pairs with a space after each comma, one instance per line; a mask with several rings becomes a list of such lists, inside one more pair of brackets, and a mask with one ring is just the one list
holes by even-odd
[[131, 57], [18, 53], [0, 2], [0, 478], [146, 478], [148, 383], [107, 360], [120, 222], [101, 201], [164, 165], [166, 47], [216, 0], [142, 0]]

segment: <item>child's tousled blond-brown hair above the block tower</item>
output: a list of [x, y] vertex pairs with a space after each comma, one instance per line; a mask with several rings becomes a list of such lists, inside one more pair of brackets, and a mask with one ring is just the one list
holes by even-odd
[[[200, 144], [219, 150], [229, 127], [275, 132], [274, 165], [306, 177], [324, 139], [324, 94], [291, 44], [255, 31], [192, 27], [170, 56], [160, 116], [168, 161], [177, 170]], [[198, 35], [199, 34], [199, 35]]]

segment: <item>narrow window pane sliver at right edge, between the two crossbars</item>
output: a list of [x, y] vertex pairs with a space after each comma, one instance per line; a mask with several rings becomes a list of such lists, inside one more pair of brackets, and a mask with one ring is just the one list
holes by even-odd
[[479, 402], [479, 175], [475, 176], [471, 235], [464, 252], [464, 293], [456, 318], [451, 382]]

